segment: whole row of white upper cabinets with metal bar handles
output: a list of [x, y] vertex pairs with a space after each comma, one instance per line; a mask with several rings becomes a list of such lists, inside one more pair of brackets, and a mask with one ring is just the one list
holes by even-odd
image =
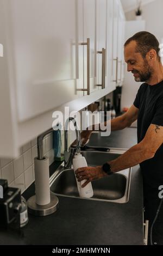
[[52, 127], [54, 111], [79, 111], [115, 89], [118, 8], [118, 0], [0, 0], [0, 156], [17, 156]]

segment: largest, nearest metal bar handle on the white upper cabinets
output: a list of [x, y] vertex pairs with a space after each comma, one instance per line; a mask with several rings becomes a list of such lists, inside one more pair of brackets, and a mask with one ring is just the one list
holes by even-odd
[[90, 38], [86, 39], [86, 42], [79, 42], [79, 45], [86, 45], [87, 47], [87, 89], [77, 89], [87, 91], [87, 95], [90, 95]]

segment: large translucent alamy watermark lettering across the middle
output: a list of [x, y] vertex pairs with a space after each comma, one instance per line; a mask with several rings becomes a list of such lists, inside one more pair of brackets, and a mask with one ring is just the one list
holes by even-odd
[[[101, 131], [101, 136], [109, 136], [111, 132], [111, 111], [71, 111], [69, 107], [65, 107], [64, 113], [61, 111], [54, 111], [52, 114], [54, 130], [64, 130], [66, 120], [69, 117], [73, 117], [76, 120], [79, 130], [92, 130], [92, 125], [94, 125], [95, 131]], [[106, 120], [106, 122], [104, 122]], [[75, 127], [70, 123], [68, 130], [75, 130]]]

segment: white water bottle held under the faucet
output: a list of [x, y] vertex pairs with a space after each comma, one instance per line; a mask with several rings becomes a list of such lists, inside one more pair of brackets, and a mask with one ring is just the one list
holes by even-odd
[[[87, 167], [87, 163], [86, 163], [85, 157], [82, 156], [80, 153], [76, 153], [74, 155], [72, 164], [73, 164], [74, 172], [78, 168]], [[76, 176], [76, 174], [75, 174], [75, 176]], [[91, 182], [89, 182], [89, 184], [87, 184], [85, 187], [82, 187], [82, 185], [84, 184], [84, 182], [86, 180], [78, 181], [77, 178], [76, 178], [76, 181], [77, 181], [77, 187], [78, 187], [78, 191], [79, 191], [79, 196], [80, 197], [90, 198], [90, 197], [93, 196], [93, 189], [92, 189]]]

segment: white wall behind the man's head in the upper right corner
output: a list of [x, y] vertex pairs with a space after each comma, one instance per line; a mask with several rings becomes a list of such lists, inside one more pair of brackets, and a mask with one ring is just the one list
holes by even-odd
[[[161, 42], [163, 37], [163, 1], [156, 0], [142, 6], [142, 19], [146, 21], [146, 31], [154, 34]], [[135, 10], [125, 14], [127, 20], [135, 20]]]

